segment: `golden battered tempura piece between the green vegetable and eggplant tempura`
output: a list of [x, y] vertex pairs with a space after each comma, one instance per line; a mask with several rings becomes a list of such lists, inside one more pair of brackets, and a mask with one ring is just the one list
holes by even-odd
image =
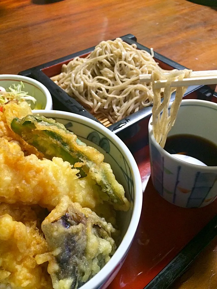
[[39, 160], [24, 156], [20, 145], [0, 138], [0, 202], [39, 204], [52, 210], [64, 195], [83, 207], [94, 209], [103, 193], [90, 177], [79, 179], [78, 170], [54, 157]]

